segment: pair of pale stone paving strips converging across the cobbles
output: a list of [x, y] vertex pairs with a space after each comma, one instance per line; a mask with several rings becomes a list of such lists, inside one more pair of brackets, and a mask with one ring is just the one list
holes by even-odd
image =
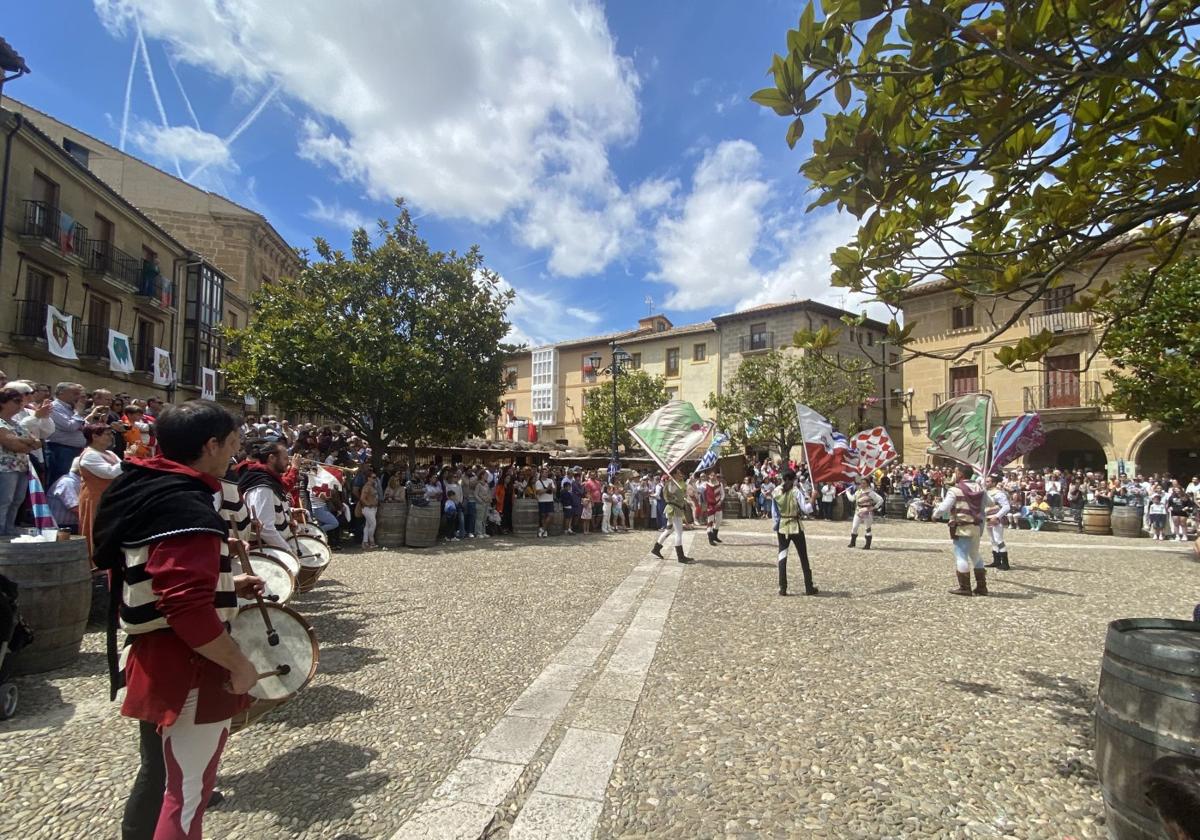
[[[568, 838], [576, 836], [570, 833], [574, 827], [589, 823], [590, 835], [622, 743], [622, 734], [604, 730], [619, 726], [623, 733], [632, 719], [682, 571], [682, 566], [654, 558], [638, 563], [392, 840], [476, 840], [487, 832], [497, 809], [510, 797], [580, 685], [594, 673], [638, 596], [656, 577], [588, 695], [584, 722], [581, 728], [568, 728], [542, 773], [541, 779], [550, 778], [550, 788], [542, 791], [539, 780], [510, 833], [511, 838]], [[595, 728], [582, 728], [586, 725]], [[526, 812], [530, 812], [528, 818]], [[542, 833], [536, 833], [539, 826]]]

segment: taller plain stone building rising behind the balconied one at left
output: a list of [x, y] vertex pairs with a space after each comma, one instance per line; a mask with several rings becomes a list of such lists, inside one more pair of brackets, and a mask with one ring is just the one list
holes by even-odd
[[197, 385], [198, 370], [218, 368], [228, 352], [221, 328], [245, 326], [253, 294], [264, 283], [300, 270], [295, 251], [264, 216], [248, 208], [194, 187], [31, 106], [6, 97], [5, 107], [53, 138], [203, 260], [205, 268], [197, 264], [190, 270], [187, 288], [204, 305], [188, 306], [184, 313], [179, 365], [181, 384]]

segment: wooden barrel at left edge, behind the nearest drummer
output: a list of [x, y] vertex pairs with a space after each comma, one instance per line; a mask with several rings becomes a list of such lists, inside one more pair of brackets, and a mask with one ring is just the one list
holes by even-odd
[[79, 655], [91, 610], [88, 542], [0, 540], [0, 575], [16, 581], [17, 604], [34, 631], [34, 643], [16, 654], [17, 673], [42, 673]]

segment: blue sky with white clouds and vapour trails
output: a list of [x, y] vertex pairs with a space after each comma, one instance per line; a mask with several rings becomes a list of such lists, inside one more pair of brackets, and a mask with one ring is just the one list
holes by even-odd
[[[395, 216], [478, 244], [533, 346], [829, 286], [856, 220], [749, 101], [799, 2], [55, 0], [5, 10], [5, 88], [262, 212], [292, 245]], [[874, 312], [872, 312], [874, 313]]]

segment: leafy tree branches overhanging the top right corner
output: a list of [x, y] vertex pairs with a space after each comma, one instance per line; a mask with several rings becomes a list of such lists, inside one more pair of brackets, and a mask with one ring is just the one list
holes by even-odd
[[[816, 200], [859, 220], [833, 284], [896, 312], [944, 280], [1018, 306], [954, 352], [985, 346], [1073, 269], [1091, 274], [1136, 235], [1144, 289], [1178, 259], [1200, 215], [1200, 56], [1194, 0], [822, 0], [750, 98], [787, 116], [786, 140], [824, 112], [802, 164]], [[815, 119], [815, 118], [814, 118]], [[1110, 293], [1096, 282], [1082, 308]], [[912, 324], [895, 319], [902, 343]], [[816, 343], [814, 347], [818, 346]], [[1040, 358], [1043, 334], [1006, 348]], [[912, 348], [910, 353], [914, 353]]]

